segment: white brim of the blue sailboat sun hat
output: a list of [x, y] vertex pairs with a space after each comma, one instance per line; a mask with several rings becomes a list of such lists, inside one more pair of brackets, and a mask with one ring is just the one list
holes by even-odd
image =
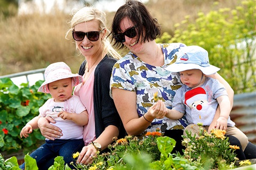
[[215, 74], [215, 72], [220, 70], [220, 68], [212, 65], [207, 67], [202, 67], [202, 66], [199, 66], [198, 64], [192, 64], [192, 63], [173, 63], [170, 66], [166, 67], [165, 69], [171, 72], [180, 72], [180, 71], [191, 70], [191, 69], [199, 69], [205, 75], [212, 75], [212, 74]]

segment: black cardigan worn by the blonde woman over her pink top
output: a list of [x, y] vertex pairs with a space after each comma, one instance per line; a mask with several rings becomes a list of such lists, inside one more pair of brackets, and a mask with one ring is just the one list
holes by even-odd
[[[93, 104], [96, 138], [98, 138], [104, 129], [109, 125], [118, 127], [119, 139], [126, 135], [114, 101], [109, 95], [111, 72], [116, 61], [116, 59], [106, 55], [100, 61], [94, 71]], [[84, 75], [85, 64], [86, 61], [84, 60], [79, 68], [79, 75]]]

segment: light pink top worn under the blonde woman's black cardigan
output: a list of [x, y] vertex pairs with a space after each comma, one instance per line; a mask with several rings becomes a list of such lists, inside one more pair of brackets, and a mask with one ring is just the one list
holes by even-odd
[[[95, 69], [94, 69], [95, 70]], [[84, 126], [83, 139], [84, 144], [88, 145], [96, 139], [95, 136], [95, 119], [94, 119], [94, 107], [93, 107], [93, 85], [94, 85], [94, 70], [92, 71], [86, 82], [75, 86], [74, 95], [79, 96], [82, 103], [89, 114], [89, 122]], [[84, 77], [85, 75], [83, 75]]]

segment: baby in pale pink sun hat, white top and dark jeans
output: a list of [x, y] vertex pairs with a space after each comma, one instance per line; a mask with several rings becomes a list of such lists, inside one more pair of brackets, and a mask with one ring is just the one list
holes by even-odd
[[[21, 129], [20, 137], [28, 137], [33, 129], [38, 128], [37, 121], [40, 117], [52, 117], [55, 126], [61, 129], [62, 136], [54, 141], [46, 139], [46, 143], [31, 153], [36, 159], [37, 166], [47, 163], [47, 158], [63, 156], [69, 165], [72, 154], [81, 151], [84, 147], [83, 126], [88, 123], [88, 112], [78, 96], [73, 96], [73, 87], [83, 82], [83, 77], [72, 74], [64, 62], [50, 64], [45, 69], [45, 82], [39, 87], [38, 92], [50, 93], [48, 99], [39, 108], [39, 115], [31, 119]], [[24, 165], [21, 165], [24, 166]]]

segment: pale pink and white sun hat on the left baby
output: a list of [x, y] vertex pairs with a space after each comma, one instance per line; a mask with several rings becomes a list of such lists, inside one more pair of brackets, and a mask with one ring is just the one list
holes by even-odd
[[72, 74], [71, 69], [65, 62], [55, 62], [50, 64], [44, 71], [45, 82], [38, 88], [38, 92], [50, 93], [48, 84], [60, 79], [72, 77], [72, 85], [76, 86], [83, 82], [83, 77]]

